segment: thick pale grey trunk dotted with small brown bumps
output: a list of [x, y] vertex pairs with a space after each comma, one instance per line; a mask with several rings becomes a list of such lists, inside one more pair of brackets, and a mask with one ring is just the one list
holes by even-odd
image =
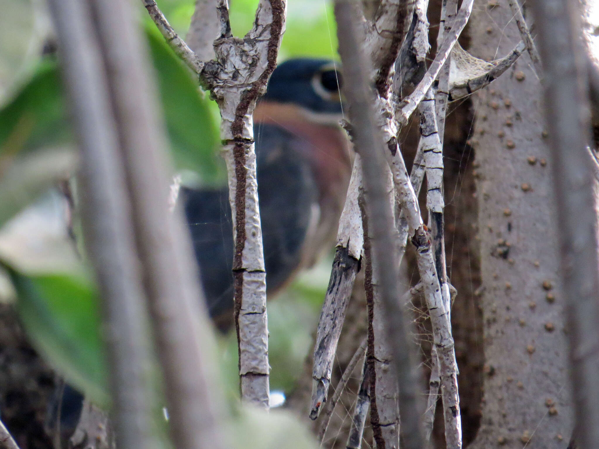
[[[489, 60], [510, 51], [520, 40], [512, 17], [507, 4], [477, 1], [470, 52]], [[485, 368], [470, 447], [565, 447], [573, 427], [567, 329], [541, 85], [528, 54], [473, 102]]]

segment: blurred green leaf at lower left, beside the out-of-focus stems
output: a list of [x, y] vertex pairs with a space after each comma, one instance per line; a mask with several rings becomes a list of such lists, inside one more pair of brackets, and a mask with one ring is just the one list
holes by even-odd
[[26, 276], [10, 269], [17, 310], [46, 360], [94, 402], [108, 404], [108, 370], [98, 295], [84, 278]]

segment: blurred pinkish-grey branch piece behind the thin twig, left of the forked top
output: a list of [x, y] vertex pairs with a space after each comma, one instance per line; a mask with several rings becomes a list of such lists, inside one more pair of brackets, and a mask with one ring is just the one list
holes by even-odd
[[217, 0], [196, 0], [185, 41], [202, 61], [214, 59], [213, 42], [219, 37], [220, 23], [216, 15]]

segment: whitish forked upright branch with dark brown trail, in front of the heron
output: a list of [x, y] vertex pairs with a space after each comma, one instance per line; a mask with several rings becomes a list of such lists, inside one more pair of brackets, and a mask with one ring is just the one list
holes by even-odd
[[219, 0], [216, 61], [202, 75], [220, 108], [223, 157], [234, 219], [234, 314], [243, 401], [268, 409], [266, 273], [258, 208], [252, 114], [277, 64], [285, 31], [285, 0], [261, 0], [253, 28], [240, 40], [231, 34], [226, 0]]

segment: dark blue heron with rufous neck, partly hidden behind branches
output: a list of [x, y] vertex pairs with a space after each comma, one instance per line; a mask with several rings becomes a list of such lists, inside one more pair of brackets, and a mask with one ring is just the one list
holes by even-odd
[[[349, 183], [350, 149], [338, 126], [337, 84], [335, 92], [327, 94], [322, 86], [323, 92], [315, 92], [323, 72], [338, 77], [330, 64], [313, 59], [283, 63], [254, 113], [269, 295], [334, 245]], [[232, 323], [234, 245], [228, 190], [182, 189], [180, 195], [210, 315], [226, 329]]]

